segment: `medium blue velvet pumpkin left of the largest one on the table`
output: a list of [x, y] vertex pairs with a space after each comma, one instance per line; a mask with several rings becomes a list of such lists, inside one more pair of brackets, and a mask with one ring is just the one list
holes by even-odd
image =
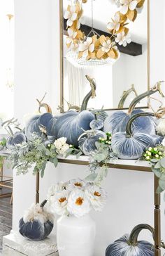
[[55, 125], [57, 117], [53, 117], [51, 113], [44, 113], [43, 115], [35, 115], [32, 117], [25, 127], [25, 134], [27, 139], [31, 138], [32, 133], [41, 135], [40, 126], [45, 127], [48, 136], [55, 136]]

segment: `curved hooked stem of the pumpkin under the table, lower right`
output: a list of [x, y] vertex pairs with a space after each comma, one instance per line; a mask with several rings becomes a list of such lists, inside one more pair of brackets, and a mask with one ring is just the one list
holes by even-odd
[[155, 230], [148, 224], [139, 224], [134, 227], [129, 236], [129, 244], [136, 246], [138, 244], [138, 235], [143, 229], [148, 229], [152, 233], [152, 237], [155, 240]]

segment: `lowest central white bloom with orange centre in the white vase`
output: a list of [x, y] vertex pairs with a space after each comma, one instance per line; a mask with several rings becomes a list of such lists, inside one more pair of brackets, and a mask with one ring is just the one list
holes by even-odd
[[80, 189], [74, 189], [68, 200], [67, 210], [71, 215], [82, 217], [91, 210], [91, 204], [85, 196], [85, 192]]

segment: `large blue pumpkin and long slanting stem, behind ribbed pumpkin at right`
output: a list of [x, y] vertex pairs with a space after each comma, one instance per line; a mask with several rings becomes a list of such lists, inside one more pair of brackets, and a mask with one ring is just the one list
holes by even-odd
[[[109, 117], [107, 117], [104, 122], [103, 131], [110, 132], [112, 134], [116, 132], [125, 132], [129, 118], [131, 118], [133, 115], [136, 115], [138, 113], [143, 113], [143, 110], [134, 109], [136, 104], [139, 101], [141, 101], [141, 99], [145, 98], [146, 96], [155, 94], [155, 92], [157, 91], [160, 92], [159, 83], [156, 84], [155, 87], [153, 87], [149, 91], [146, 91], [145, 93], [134, 98], [134, 100], [131, 102], [129, 106], [128, 113], [125, 113], [124, 111], [116, 111], [115, 113], [113, 113], [113, 115], [110, 115]], [[153, 117], [146, 117], [145, 120], [141, 117], [138, 117], [134, 121], [132, 126], [133, 131], [138, 130], [148, 134], [155, 134], [155, 128], [156, 128], [156, 123]]]

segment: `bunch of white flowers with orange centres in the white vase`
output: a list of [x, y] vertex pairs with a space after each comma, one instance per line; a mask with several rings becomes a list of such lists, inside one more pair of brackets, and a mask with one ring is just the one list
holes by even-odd
[[72, 179], [51, 186], [50, 209], [57, 215], [82, 217], [90, 210], [101, 211], [106, 204], [106, 191], [82, 179]]

